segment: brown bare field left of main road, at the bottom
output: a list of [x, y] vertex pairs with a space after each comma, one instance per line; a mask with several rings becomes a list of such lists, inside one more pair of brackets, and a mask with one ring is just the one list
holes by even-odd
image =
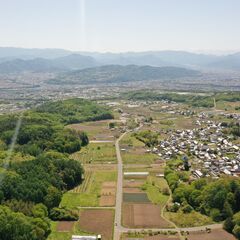
[[80, 228], [101, 234], [102, 239], [111, 240], [113, 235], [114, 212], [112, 210], [84, 210], [80, 214]]

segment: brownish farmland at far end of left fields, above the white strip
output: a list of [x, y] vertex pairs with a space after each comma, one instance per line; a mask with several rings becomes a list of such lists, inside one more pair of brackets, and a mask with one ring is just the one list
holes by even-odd
[[114, 141], [115, 138], [119, 136], [119, 131], [117, 129], [109, 129], [109, 123], [114, 122], [114, 120], [103, 120], [96, 122], [86, 122], [81, 124], [71, 124], [68, 125], [69, 128], [75, 129], [77, 131], [84, 131], [87, 133], [89, 140], [97, 141]]

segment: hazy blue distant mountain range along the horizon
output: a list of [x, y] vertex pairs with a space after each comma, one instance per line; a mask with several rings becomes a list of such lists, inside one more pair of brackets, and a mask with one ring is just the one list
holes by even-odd
[[62, 49], [0, 48], [0, 73], [62, 72], [105, 65], [148, 65], [205, 71], [240, 71], [240, 53], [223, 56], [184, 51], [118, 54], [71, 52]]

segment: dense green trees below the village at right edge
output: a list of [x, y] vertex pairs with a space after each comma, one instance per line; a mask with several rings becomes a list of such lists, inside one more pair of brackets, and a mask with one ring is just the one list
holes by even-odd
[[216, 222], [224, 221], [224, 228], [240, 239], [240, 180], [203, 178], [189, 183], [187, 172], [175, 171], [181, 164], [181, 160], [173, 160], [165, 169], [175, 202], [168, 210], [185, 213], [195, 210]]

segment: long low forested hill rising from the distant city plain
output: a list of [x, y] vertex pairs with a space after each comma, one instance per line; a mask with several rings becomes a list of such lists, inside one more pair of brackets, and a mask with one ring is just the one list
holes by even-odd
[[198, 76], [198, 71], [178, 67], [108, 65], [59, 74], [50, 84], [100, 84], [177, 79]]

